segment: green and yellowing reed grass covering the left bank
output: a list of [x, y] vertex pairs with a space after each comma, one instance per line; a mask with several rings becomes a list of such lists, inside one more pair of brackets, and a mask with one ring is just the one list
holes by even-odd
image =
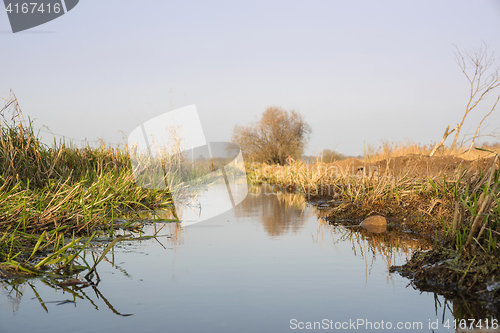
[[98, 232], [127, 210], [168, 209], [165, 190], [138, 187], [126, 150], [48, 147], [12, 97], [0, 110], [0, 270], [74, 272]]

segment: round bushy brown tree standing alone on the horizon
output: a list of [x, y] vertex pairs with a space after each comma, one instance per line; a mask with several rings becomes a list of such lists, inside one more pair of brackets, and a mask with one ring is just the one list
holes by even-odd
[[288, 156], [302, 155], [310, 133], [302, 115], [271, 106], [256, 123], [235, 126], [231, 141], [254, 161], [283, 165]]

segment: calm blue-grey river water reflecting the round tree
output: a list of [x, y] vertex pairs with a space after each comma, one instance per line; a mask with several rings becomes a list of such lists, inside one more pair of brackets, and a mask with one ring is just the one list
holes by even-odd
[[253, 189], [234, 210], [185, 228], [148, 225], [172, 237], [119, 243], [96, 288], [0, 283], [0, 332], [289, 332], [300, 322], [338, 331], [336, 322], [361, 320], [375, 327], [357, 330], [383, 321], [431, 332], [437, 321], [434, 331], [451, 331], [449, 301], [388, 272], [419, 245], [415, 236], [331, 226], [299, 197], [270, 192]]

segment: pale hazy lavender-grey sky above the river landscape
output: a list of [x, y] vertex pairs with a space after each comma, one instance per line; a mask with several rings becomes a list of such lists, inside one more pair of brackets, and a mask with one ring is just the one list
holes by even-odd
[[[500, 1], [81, 0], [10, 31], [2, 9], [0, 93], [36, 128], [119, 143], [139, 120], [196, 104], [207, 139], [227, 141], [278, 105], [311, 125], [307, 153], [357, 154], [363, 141], [439, 141], [461, 120], [454, 45], [500, 56]], [[488, 123], [500, 127], [500, 108]]]

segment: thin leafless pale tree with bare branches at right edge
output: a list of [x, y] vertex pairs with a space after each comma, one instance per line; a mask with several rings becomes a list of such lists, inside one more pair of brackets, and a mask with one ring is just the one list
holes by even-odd
[[[462, 53], [457, 48], [457, 51], [455, 52], [455, 61], [460, 66], [460, 69], [469, 81], [470, 96], [462, 121], [456, 127], [455, 138], [453, 139], [451, 148], [455, 147], [457, 143], [465, 118], [467, 118], [469, 113], [474, 110], [481, 101], [485, 100], [486, 97], [493, 92], [493, 90], [500, 86], [500, 66], [495, 63], [494, 53], [491, 55], [488, 54], [488, 45], [486, 45], [486, 43], [483, 42], [478, 49], [474, 49], [471, 52]], [[474, 142], [477, 138], [481, 125], [484, 120], [491, 115], [499, 100], [500, 95], [496, 98], [496, 102], [490, 109], [489, 113], [483, 117], [483, 120], [477, 127], [476, 132], [472, 137], [472, 143], [469, 151], [474, 146]]]

